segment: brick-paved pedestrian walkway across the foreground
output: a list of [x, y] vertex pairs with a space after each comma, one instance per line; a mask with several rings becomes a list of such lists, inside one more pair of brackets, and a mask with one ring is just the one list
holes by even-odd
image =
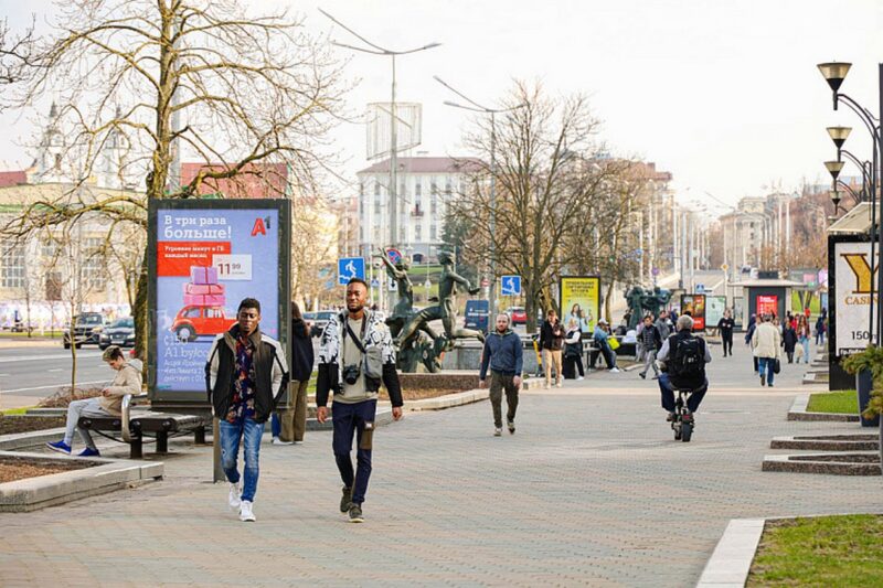
[[785, 420], [799, 370], [759, 388], [737, 353], [690, 443], [636, 373], [524, 393], [502, 438], [487, 403], [409, 414], [375, 435], [363, 525], [337, 510], [330, 432], [264, 446], [255, 524], [182, 445], [162, 482], [0, 514], [0, 585], [692, 586], [730, 518], [883, 511], [880, 478], [760, 471], [774, 436], [858, 426]]

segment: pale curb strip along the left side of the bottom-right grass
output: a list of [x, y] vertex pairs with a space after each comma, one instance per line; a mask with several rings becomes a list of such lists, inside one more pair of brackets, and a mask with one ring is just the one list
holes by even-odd
[[732, 518], [705, 564], [696, 588], [745, 586], [765, 523], [765, 518]]

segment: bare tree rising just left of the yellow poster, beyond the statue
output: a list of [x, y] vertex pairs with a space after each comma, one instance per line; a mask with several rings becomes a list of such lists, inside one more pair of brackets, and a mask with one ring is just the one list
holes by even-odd
[[[477, 119], [465, 138], [481, 160], [471, 162], [477, 169], [466, 193], [451, 204], [451, 213], [471, 221], [464, 238], [468, 255], [487, 260], [492, 244], [498, 272], [522, 277], [532, 330], [535, 309], [554, 306], [551, 288], [579, 255], [564, 247], [568, 234], [587, 222], [605, 193], [605, 182], [620, 165], [600, 162], [602, 149], [594, 141], [598, 124], [585, 96], [551, 98], [540, 84], [517, 82], [504, 103], [515, 108], [501, 117], [496, 129], [487, 118]], [[489, 194], [491, 174], [496, 202]]]

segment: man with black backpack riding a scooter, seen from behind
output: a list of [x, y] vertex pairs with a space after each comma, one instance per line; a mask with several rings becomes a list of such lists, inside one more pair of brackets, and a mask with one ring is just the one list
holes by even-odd
[[705, 340], [693, 334], [693, 319], [687, 314], [678, 317], [677, 332], [662, 343], [657, 361], [662, 364], [659, 376], [659, 391], [662, 393], [662, 408], [668, 410], [666, 420], [675, 419], [674, 391], [690, 391], [687, 400], [684, 421], [692, 423], [693, 413], [709, 389], [705, 364], [711, 362], [711, 352]]

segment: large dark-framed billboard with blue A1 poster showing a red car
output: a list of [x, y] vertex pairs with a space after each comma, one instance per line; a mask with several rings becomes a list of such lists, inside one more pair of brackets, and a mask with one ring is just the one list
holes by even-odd
[[287, 349], [288, 201], [151, 201], [148, 222], [150, 396], [205, 402], [210, 348], [243, 299], [260, 303], [260, 331]]

